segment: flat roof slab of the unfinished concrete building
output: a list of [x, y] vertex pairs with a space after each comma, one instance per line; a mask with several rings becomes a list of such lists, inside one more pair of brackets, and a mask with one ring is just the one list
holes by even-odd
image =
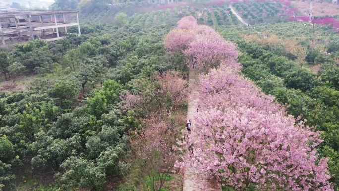
[[42, 16], [42, 15], [52, 15], [52, 14], [66, 14], [66, 13], [76, 13], [79, 12], [77, 10], [69, 10], [69, 11], [54, 11], [54, 10], [34, 10], [34, 11], [6, 11], [0, 12], [1, 18], [13, 18], [13, 17], [27, 17], [27, 16]]

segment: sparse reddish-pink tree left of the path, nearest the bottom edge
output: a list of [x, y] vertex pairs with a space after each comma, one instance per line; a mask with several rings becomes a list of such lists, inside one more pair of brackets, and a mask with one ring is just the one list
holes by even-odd
[[160, 191], [173, 172], [178, 159], [173, 145], [180, 136], [178, 122], [181, 120], [165, 111], [152, 113], [144, 120], [144, 128], [136, 131], [131, 139], [133, 150], [144, 161], [141, 173], [148, 177], [152, 191]]

